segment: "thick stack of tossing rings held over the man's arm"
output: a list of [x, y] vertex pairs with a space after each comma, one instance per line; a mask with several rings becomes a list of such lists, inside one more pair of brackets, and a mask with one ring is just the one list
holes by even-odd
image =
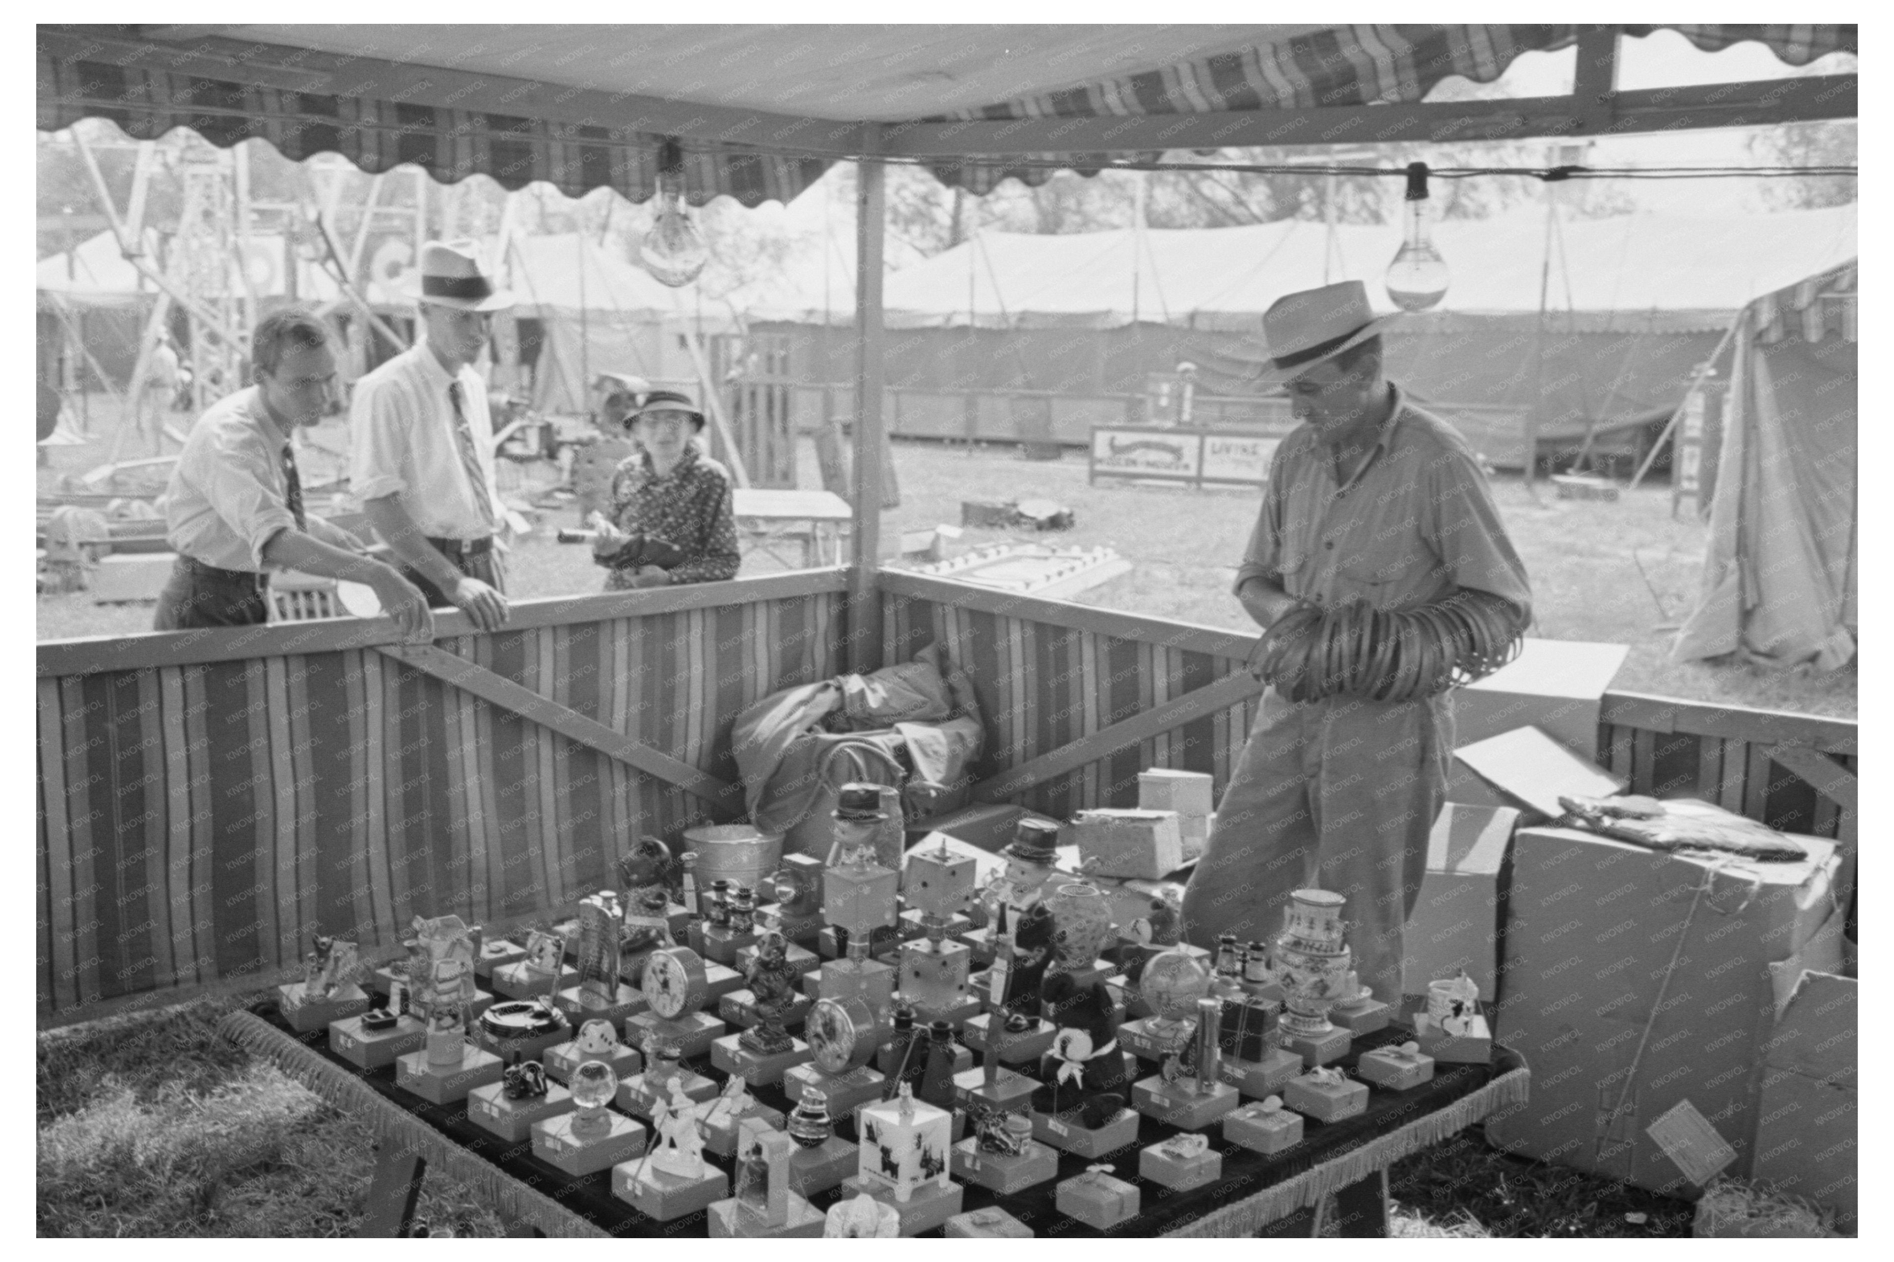
[[1492, 675], [1523, 635], [1511, 606], [1479, 591], [1409, 610], [1299, 604], [1256, 642], [1250, 671], [1288, 701], [1415, 701]]

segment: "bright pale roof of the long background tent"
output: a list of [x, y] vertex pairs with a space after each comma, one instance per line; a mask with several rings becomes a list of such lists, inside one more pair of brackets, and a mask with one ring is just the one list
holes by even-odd
[[[1362, 280], [1379, 311], [1400, 224], [1333, 227], [1341, 267], [1324, 277], [1328, 227], [1277, 220], [1246, 227], [1104, 233], [981, 233], [888, 277], [888, 328], [1116, 328], [1138, 320], [1254, 332], [1282, 294]], [[1758, 294], [1854, 256], [1856, 208], [1786, 214], [1561, 216], [1551, 307], [1585, 328], [1640, 313], [1735, 313]], [[1142, 237], [1142, 241], [1140, 241]], [[1436, 311], [1536, 313], [1546, 212], [1447, 220], [1434, 244], [1453, 271]], [[843, 313], [852, 318], [852, 311]], [[1718, 328], [1727, 320], [1718, 318]]]

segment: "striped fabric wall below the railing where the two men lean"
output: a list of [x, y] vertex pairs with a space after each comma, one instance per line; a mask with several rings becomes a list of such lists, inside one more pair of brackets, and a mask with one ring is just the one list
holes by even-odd
[[[841, 671], [833, 591], [438, 646], [737, 779], [729, 726]], [[314, 932], [523, 917], [705, 803], [373, 648], [38, 680], [42, 1018], [273, 976]]]

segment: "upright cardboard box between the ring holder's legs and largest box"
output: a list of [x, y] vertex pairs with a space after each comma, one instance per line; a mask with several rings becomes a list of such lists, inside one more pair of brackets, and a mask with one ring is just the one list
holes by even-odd
[[1426, 843], [1426, 877], [1407, 928], [1402, 930], [1402, 993], [1426, 995], [1426, 983], [1462, 970], [1491, 1001], [1506, 889], [1511, 883], [1511, 807], [1449, 802]]

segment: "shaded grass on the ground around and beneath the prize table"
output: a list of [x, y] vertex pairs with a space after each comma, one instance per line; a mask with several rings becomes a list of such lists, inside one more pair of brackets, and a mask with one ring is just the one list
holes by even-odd
[[[38, 1038], [38, 1234], [354, 1234], [373, 1171], [366, 1126], [216, 1035], [242, 999]], [[1475, 1131], [1398, 1162], [1392, 1230], [1453, 1235], [1689, 1235], [1684, 1201], [1494, 1152]], [[417, 1213], [456, 1235], [506, 1224], [438, 1171]]]

